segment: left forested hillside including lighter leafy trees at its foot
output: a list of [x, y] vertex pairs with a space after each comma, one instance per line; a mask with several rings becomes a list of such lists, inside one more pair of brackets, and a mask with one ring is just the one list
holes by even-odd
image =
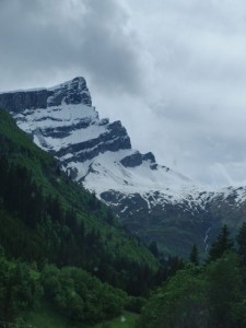
[[0, 317], [8, 321], [46, 301], [69, 319], [102, 321], [131, 307], [129, 300], [138, 301], [132, 296], [145, 296], [167, 274], [3, 110], [0, 224]]

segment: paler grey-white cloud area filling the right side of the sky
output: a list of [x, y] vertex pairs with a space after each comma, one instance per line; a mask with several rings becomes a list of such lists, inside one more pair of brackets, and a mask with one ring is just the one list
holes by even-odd
[[209, 184], [245, 180], [246, 3], [128, 3], [155, 78], [145, 99], [152, 110], [145, 144]]

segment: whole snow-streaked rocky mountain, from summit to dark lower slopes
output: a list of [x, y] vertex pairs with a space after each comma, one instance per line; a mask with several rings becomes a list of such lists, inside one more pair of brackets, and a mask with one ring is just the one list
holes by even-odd
[[0, 107], [67, 175], [95, 191], [121, 222], [165, 254], [204, 254], [222, 223], [236, 229], [246, 188], [210, 190], [131, 148], [120, 121], [101, 119], [84, 78], [54, 87], [0, 94]]

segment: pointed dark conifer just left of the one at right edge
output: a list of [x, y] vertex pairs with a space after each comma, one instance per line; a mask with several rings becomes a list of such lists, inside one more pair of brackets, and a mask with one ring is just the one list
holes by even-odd
[[221, 230], [216, 239], [211, 244], [209, 250], [209, 260], [216, 260], [222, 257], [224, 251], [233, 248], [233, 239], [230, 238], [229, 227], [226, 224]]

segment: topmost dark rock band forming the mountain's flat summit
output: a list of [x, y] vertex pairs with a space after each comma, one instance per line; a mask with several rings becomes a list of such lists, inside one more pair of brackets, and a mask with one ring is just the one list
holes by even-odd
[[0, 107], [8, 112], [21, 113], [24, 109], [47, 108], [66, 104], [92, 105], [84, 78], [75, 78], [56, 87], [17, 91], [0, 94]]

